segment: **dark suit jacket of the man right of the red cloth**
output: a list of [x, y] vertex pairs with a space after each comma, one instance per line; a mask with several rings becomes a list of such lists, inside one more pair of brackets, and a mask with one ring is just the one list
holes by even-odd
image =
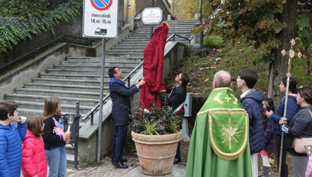
[[166, 103], [167, 105], [171, 105], [173, 110], [183, 103], [186, 98], [186, 86], [175, 86], [173, 88], [167, 88], [167, 93], [171, 93], [169, 97], [166, 96], [165, 93], [159, 92], [159, 96], [161, 97], [161, 101]]

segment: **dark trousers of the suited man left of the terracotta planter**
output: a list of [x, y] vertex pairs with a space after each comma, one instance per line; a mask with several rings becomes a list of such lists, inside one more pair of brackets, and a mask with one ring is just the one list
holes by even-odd
[[127, 135], [127, 126], [115, 126], [115, 136], [112, 141], [112, 161], [122, 161], [122, 150], [124, 149]]

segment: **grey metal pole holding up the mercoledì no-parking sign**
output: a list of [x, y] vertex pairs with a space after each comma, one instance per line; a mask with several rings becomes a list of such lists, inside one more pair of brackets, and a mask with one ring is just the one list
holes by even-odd
[[104, 71], [105, 71], [105, 38], [102, 39], [102, 59], [100, 67], [100, 113], [98, 115], [98, 154], [96, 161], [100, 163], [100, 139], [102, 135], [102, 117], [103, 117], [103, 88], [104, 88]]

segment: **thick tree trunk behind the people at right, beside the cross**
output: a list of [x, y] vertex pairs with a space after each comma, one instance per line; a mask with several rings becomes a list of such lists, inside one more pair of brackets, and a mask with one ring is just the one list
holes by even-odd
[[279, 84], [286, 77], [289, 59], [287, 55], [282, 57], [281, 51], [290, 49], [290, 40], [296, 35], [297, 4], [298, 0], [289, 0], [284, 4], [283, 12], [279, 15], [279, 21], [287, 23], [287, 27], [277, 35], [282, 45], [271, 51], [271, 54], [275, 55], [275, 62], [270, 64], [267, 97], [272, 98], [276, 106], [282, 96], [279, 91]]

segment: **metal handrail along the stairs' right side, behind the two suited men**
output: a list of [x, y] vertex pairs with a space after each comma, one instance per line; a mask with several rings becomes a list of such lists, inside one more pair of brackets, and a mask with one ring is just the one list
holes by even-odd
[[[180, 38], [183, 38], [185, 40], [188, 40], [189, 41], [189, 44], [190, 44], [190, 41], [192, 40], [192, 38], [194, 38], [195, 35], [192, 35], [190, 38], [185, 38], [181, 35], [178, 35], [178, 34], [175, 34], [173, 33], [171, 36], [169, 36], [169, 38], [167, 38], [166, 42], [168, 42], [169, 40], [171, 40], [171, 38], [173, 38], [173, 41], [175, 40], [174, 37], [178, 36]], [[126, 77], [125, 79], [123, 79], [122, 81], [127, 81], [127, 84], [128, 84], [128, 87], [130, 86], [130, 79], [131, 79], [131, 76], [132, 74], [134, 74], [134, 72], [137, 72], [137, 70], [139, 68], [141, 68], [141, 66], [143, 65], [143, 61], [137, 65], [137, 67], [135, 67], [132, 72], [130, 72]], [[108, 93], [108, 95], [105, 96], [105, 98], [103, 98], [103, 103], [105, 101], [108, 100], [108, 98], [110, 97], [110, 93]], [[91, 116], [91, 121], [90, 121], [90, 124], [93, 125], [93, 115], [94, 115], [94, 112], [98, 109], [98, 107], [100, 107], [100, 102], [98, 102], [98, 104], [96, 104], [88, 113], [86, 113], [86, 115], [83, 116], [83, 118], [81, 118], [81, 120], [86, 120], [89, 116]]]

